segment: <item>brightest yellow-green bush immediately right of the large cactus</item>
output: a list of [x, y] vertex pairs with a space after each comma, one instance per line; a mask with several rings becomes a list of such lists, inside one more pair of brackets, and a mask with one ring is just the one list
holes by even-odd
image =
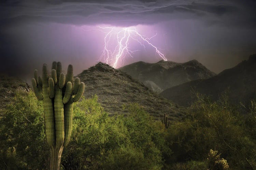
[[101, 155], [127, 141], [122, 122], [114, 121], [97, 102], [97, 97], [74, 106], [72, 140], [64, 151], [66, 168], [97, 169]]

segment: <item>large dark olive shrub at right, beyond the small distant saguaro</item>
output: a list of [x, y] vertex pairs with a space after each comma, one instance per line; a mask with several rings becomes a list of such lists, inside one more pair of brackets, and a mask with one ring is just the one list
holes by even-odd
[[214, 148], [230, 167], [251, 168], [248, 160], [251, 164], [255, 160], [255, 138], [244, 128], [246, 119], [238, 111], [229, 105], [225, 96], [217, 102], [199, 98], [184, 121], [170, 125], [167, 141], [174, 154], [168, 163], [205, 160], [209, 150]]

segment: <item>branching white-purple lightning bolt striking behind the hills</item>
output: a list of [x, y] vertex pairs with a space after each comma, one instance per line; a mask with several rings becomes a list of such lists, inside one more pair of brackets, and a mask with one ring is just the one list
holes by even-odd
[[[143, 46], [144, 50], [146, 50], [145, 44], [155, 49], [155, 55], [159, 55], [162, 60], [167, 61], [165, 55], [161, 53], [156, 46], [154, 46], [150, 40], [157, 36], [157, 32], [152, 37], [146, 37], [141, 35], [135, 28], [122, 28], [120, 31], [116, 27], [100, 27], [99, 29], [94, 29], [105, 33], [104, 36], [104, 47], [102, 50], [102, 54], [100, 55], [99, 61], [104, 61], [106, 64], [110, 64], [114, 68], [117, 67], [118, 61], [122, 60], [123, 65], [125, 63], [125, 57], [130, 56], [133, 57], [133, 53], [140, 50], [130, 50], [129, 42], [131, 40], [136, 41], [141, 46]], [[120, 28], [119, 28], [120, 29]], [[105, 31], [109, 30], [109, 31]], [[90, 30], [84, 30], [90, 31]], [[115, 36], [116, 35], [116, 36]], [[116, 39], [116, 46], [114, 50], [111, 50], [109, 47], [110, 41]], [[160, 49], [161, 50], [161, 49]], [[113, 51], [113, 52], [112, 52]]]

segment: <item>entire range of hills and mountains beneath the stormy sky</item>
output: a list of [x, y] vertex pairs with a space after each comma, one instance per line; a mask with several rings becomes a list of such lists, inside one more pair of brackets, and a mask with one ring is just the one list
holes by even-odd
[[[130, 72], [131, 75], [123, 71]], [[139, 103], [148, 113], [155, 116], [155, 119], [160, 119], [163, 113], [167, 113], [170, 119], [174, 120], [184, 116], [182, 106], [189, 106], [194, 102], [194, 92], [218, 100], [226, 90], [233, 104], [246, 103], [253, 99], [256, 91], [256, 54], [217, 75], [192, 60], [186, 63], [137, 62], [119, 70], [98, 63], [77, 77], [86, 85], [85, 98], [97, 95], [98, 101], [111, 115], [126, 114], [127, 110], [123, 109], [123, 105]], [[164, 90], [158, 95], [134, 78], [154, 91]], [[167, 88], [168, 86], [171, 88]], [[27, 83], [0, 75], [0, 110], [12, 102], [16, 92], [26, 93], [29, 90], [31, 89]]]

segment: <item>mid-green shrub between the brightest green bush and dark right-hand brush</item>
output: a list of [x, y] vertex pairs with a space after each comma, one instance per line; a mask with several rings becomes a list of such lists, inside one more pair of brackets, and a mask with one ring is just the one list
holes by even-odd
[[171, 154], [171, 150], [166, 145], [163, 127], [155, 124], [152, 117], [136, 103], [124, 108], [128, 109], [129, 113], [123, 122], [127, 127], [131, 143], [143, 151], [151, 169], [160, 169], [163, 163], [162, 155]]

